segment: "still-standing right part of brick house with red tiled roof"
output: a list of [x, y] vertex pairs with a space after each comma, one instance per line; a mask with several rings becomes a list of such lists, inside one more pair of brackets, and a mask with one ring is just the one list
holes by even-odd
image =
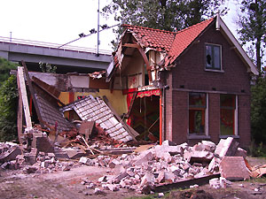
[[219, 15], [178, 32], [122, 27], [106, 81], [127, 96], [124, 119], [140, 137], [250, 143], [250, 84], [258, 72]]

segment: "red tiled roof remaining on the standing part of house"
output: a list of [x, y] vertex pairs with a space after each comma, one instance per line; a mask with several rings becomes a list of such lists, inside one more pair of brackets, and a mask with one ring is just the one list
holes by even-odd
[[148, 27], [136, 27], [122, 25], [133, 33], [137, 42], [145, 47], [150, 47], [158, 51], [168, 52], [166, 65], [171, 64], [214, 20], [207, 19], [192, 27], [187, 27], [178, 32], [169, 32], [165, 30], [153, 29]]

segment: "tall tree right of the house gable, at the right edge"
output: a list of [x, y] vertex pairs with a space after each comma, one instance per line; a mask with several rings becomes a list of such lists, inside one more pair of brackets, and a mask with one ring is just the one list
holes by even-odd
[[261, 73], [263, 48], [266, 44], [266, 1], [242, 0], [240, 9], [243, 14], [238, 21], [239, 39], [247, 46], [248, 54], [254, 57], [257, 69]]

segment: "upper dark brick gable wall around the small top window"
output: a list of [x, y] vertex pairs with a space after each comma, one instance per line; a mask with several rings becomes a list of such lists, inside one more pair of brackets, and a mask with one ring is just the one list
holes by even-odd
[[[224, 73], [205, 71], [205, 43], [222, 45], [222, 67]], [[249, 93], [249, 75], [246, 65], [231, 44], [223, 38], [215, 26], [210, 27], [200, 37], [200, 42], [192, 44], [192, 48], [179, 57], [176, 68], [172, 69], [173, 88], [184, 85], [187, 89], [237, 92], [245, 90]]]

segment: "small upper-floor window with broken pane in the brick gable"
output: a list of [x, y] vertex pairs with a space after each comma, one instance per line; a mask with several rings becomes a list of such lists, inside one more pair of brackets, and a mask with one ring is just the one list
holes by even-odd
[[221, 70], [221, 46], [206, 44], [206, 69]]

